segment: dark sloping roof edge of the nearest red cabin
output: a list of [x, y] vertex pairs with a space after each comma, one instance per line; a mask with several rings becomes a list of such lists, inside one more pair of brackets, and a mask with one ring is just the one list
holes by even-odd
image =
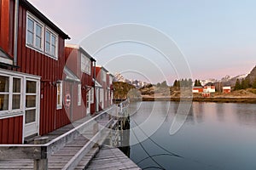
[[64, 39], [70, 39], [70, 37], [68, 37], [68, 35], [66, 33], [61, 31], [61, 29], [58, 26], [55, 26], [55, 24], [52, 21], [50, 21], [46, 16], [44, 16], [44, 14], [42, 14], [37, 8], [32, 6], [31, 3], [28, 3], [28, 1], [26, 1], [26, 0], [20, 0], [20, 4], [24, 8], [26, 8], [29, 12], [34, 14], [39, 20], [44, 22], [44, 24], [49, 26], [53, 31], [58, 33], [61, 37], [63, 37]]

